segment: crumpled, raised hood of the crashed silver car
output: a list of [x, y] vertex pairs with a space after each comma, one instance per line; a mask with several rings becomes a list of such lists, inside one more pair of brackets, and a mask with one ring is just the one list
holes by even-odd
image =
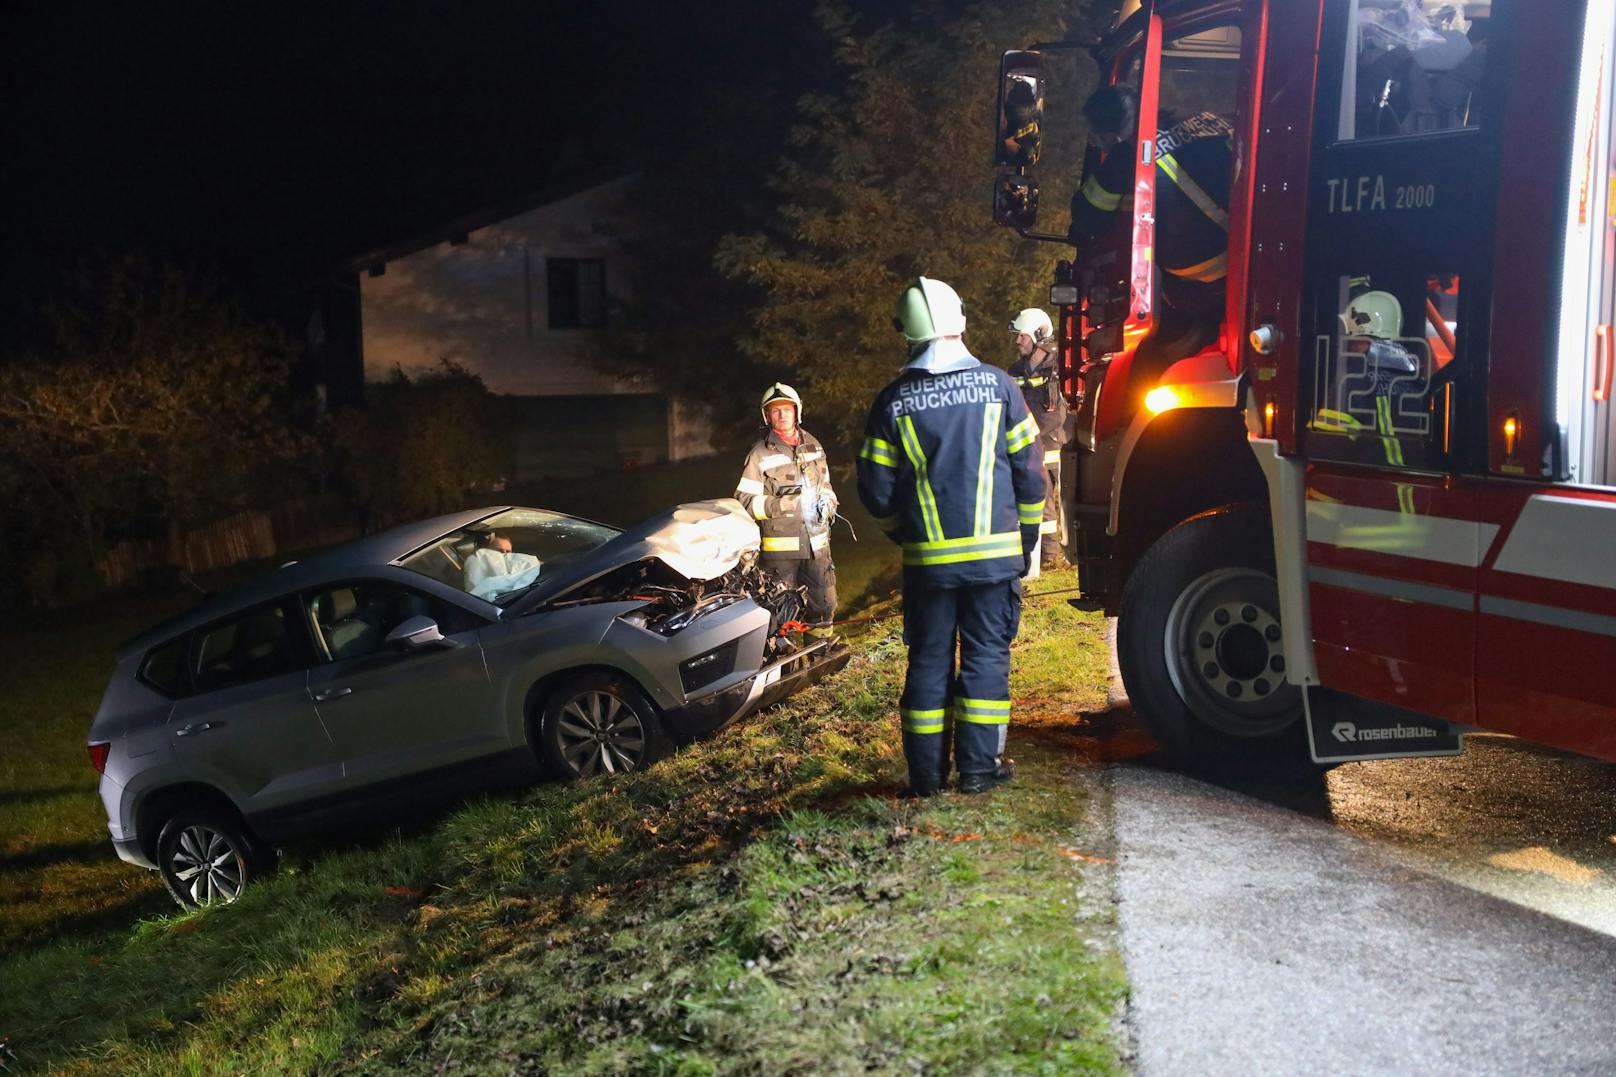
[[758, 524], [735, 498], [690, 501], [630, 527], [540, 579], [511, 606], [527, 613], [624, 564], [656, 560], [687, 581], [718, 579], [763, 545]]

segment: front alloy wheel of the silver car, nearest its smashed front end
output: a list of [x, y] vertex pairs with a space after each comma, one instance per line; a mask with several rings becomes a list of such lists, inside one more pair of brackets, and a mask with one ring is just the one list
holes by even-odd
[[667, 750], [651, 700], [612, 673], [558, 684], [545, 703], [538, 741], [545, 765], [569, 779], [645, 770]]

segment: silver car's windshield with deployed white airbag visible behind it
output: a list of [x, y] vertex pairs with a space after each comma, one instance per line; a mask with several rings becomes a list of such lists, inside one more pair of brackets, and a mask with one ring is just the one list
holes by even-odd
[[545, 509], [506, 509], [459, 527], [399, 564], [503, 605], [538, 577], [621, 532]]

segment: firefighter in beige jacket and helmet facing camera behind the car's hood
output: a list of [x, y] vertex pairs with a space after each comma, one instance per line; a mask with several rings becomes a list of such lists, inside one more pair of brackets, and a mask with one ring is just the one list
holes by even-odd
[[805, 585], [805, 619], [829, 624], [835, 616], [831, 521], [837, 500], [824, 446], [797, 425], [803, 401], [790, 385], [771, 385], [761, 408], [768, 429], [747, 453], [735, 496], [763, 532], [763, 568], [789, 587]]

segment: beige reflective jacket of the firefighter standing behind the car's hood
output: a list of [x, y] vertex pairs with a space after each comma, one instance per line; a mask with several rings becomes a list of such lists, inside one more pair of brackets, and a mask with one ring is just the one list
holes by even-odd
[[[831, 547], [829, 527], [808, 522], [818, 493], [835, 500], [831, 469], [819, 440], [800, 427], [798, 433], [795, 446], [772, 430], [764, 433], [747, 453], [735, 484], [735, 498], [763, 532], [760, 558], [764, 561], [805, 561]], [[787, 492], [792, 487], [795, 493]]]

